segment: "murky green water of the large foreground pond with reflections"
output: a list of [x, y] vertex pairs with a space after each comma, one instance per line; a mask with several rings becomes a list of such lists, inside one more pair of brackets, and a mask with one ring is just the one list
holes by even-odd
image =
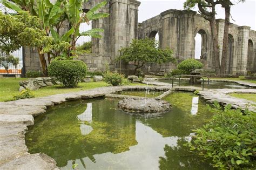
[[174, 92], [161, 117], [136, 117], [117, 99], [79, 100], [49, 108], [26, 133], [30, 153], [42, 152], [62, 169], [212, 169], [184, 147], [192, 130], [212, 117], [193, 93]]

